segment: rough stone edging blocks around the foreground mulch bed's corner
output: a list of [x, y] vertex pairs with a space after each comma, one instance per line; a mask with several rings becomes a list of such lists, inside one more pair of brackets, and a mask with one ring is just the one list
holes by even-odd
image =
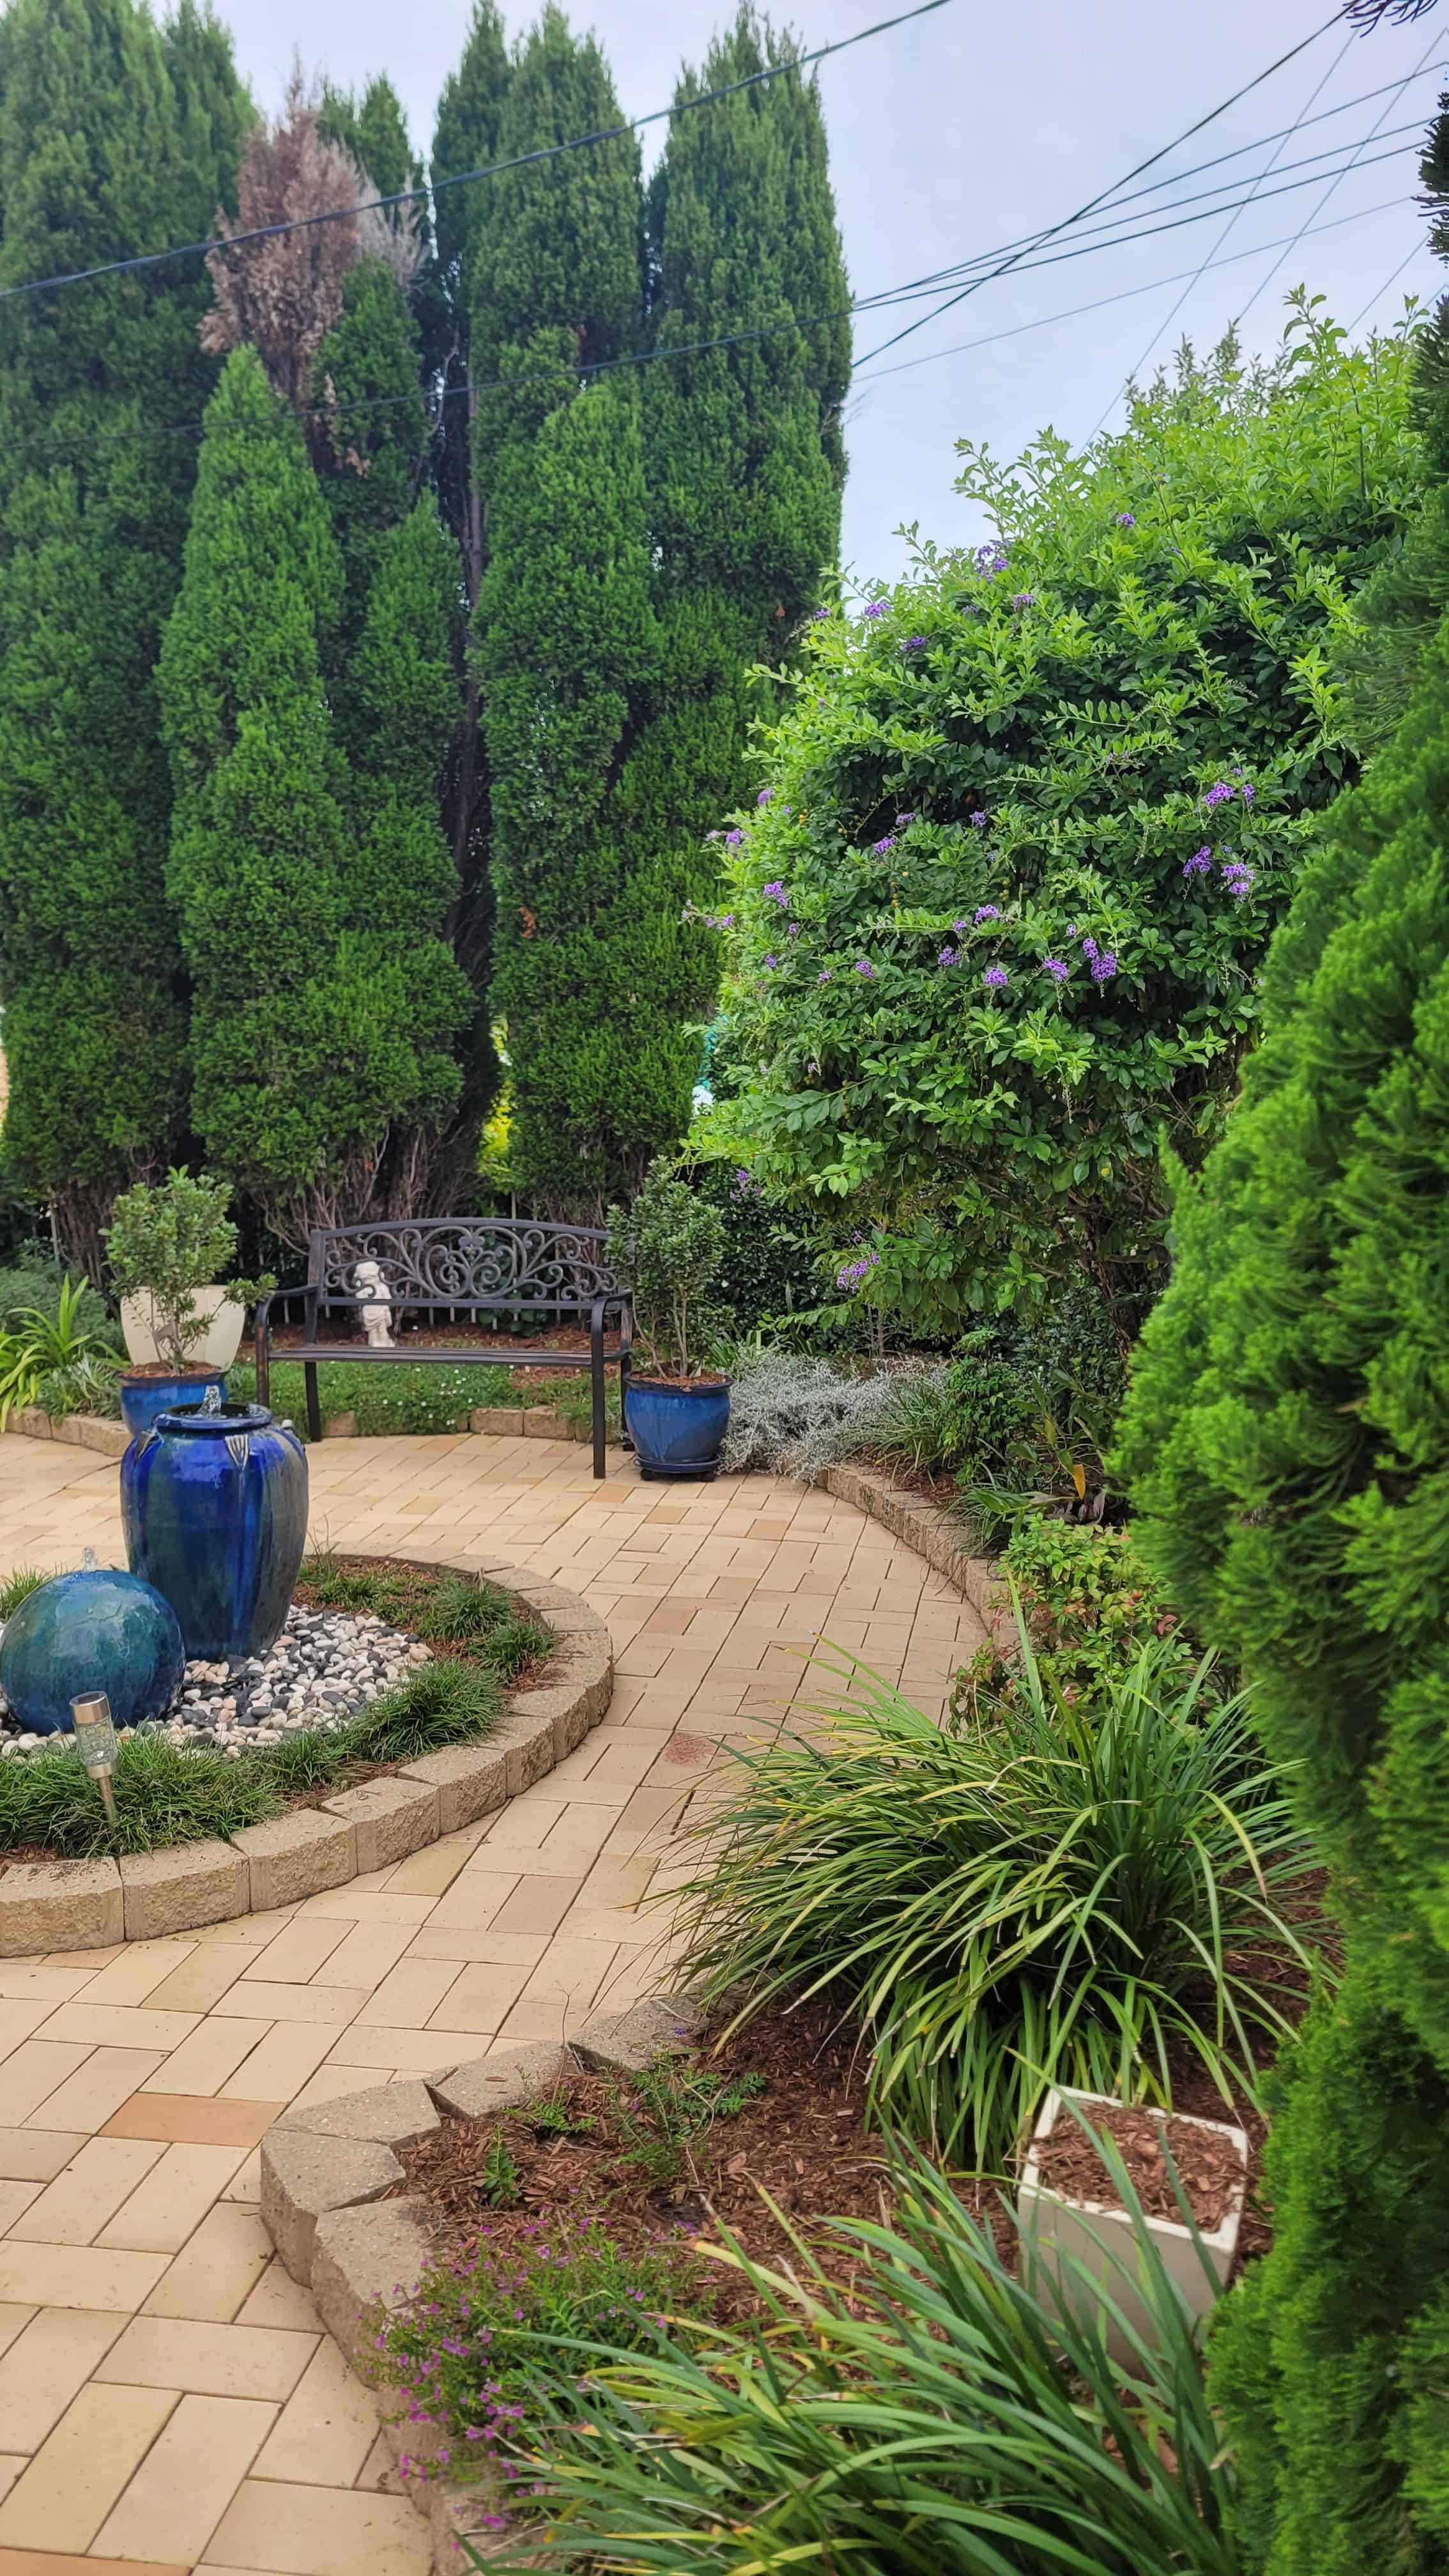
[[[624, 2012], [596, 2014], [567, 2043], [495, 2048], [420, 2079], [284, 2110], [260, 2143], [260, 2215], [291, 2280], [312, 2290], [348, 2367], [376, 2347], [379, 2313], [405, 2306], [436, 2251], [425, 2202], [382, 2197], [402, 2182], [397, 2146], [425, 2138], [438, 2115], [474, 2120], [531, 2102], [557, 2084], [570, 2056], [596, 2074], [639, 2074], [696, 2025], [699, 2007], [688, 1996], [645, 1996]], [[384, 2419], [382, 2429], [394, 2458], [425, 2450], [405, 2416]], [[433, 2576], [462, 2576], [472, 2558], [529, 2563], [518, 2558], [526, 2532], [495, 2532], [485, 2522], [498, 2512], [495, 2488], [413, 2478], [407, 2494], [431, 2524]]]

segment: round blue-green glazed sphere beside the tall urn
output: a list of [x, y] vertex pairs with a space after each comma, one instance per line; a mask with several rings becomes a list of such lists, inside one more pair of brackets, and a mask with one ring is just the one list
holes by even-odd
[[85, 1690], [106, 1692], [116, 1726], [162, 1718], [183, 1669], [170, 1602], [113, 1566], [83, 1566], [26, 1592], [0, 1638], [0, 1690], [36, 1736], [70, 1734], [70, 1703]]

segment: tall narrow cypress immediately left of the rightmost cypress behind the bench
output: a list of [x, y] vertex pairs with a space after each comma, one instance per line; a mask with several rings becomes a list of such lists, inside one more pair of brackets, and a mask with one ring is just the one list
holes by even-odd
[[[549, 8], [503, 108], [503, 155], [619, 121], [593, 39]], [[619, 1188], [611, 1136], [629, 1082], [598, 1079], [621, 989], [611, 953], [632, 853], [614, 786], [657, 662], [639, 404], [588, 368], [639, 330], [639, 155], [632, 137], [490, 183], [472, 252], [472, 466], [487, 513], [477, 641], [492, 796], [495, 976], [508, 1023], [521, 1190], [596, 1211]], [[544, 502], [547, 495], [547, 502]], [[632, 992], [632, 999], [627, 994]]]

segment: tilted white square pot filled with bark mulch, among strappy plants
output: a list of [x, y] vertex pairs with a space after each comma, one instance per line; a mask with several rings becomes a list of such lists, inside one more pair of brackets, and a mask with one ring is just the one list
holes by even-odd
[[[1039, 2179], [1039, 2148], [1052, 2136], [1057, 2117], [1070, 2117], [1070, 2112], [1062, 2110], [1062, 2102], [1080, 2105], [1088, 2120], [1093, 2110], [1122, 2107], [1104, 2094], [1070, 2092], [1067, 2087], [1047, 2094], [1042, 2117], [1031, 2133], [1026, 2164], [1021, 2166], [1021, 2182], [1016, 2187], [1021, 2259], [1029, 2264], [1031, 2287], [1062, 2316], [1098, 2316], [1101, 2303], [1093, 2282], [1101, 2282], [1106, 2298], [1111, 2298], [1137, 2334], [1150, 2342], [1152, 2318], [1140, 2287], [1142, 2254], [1127, 2210], [1109, 2208], [1101, 2200], [1065, 2200], [1060, 2192], [1047, 2190]], [[1238, 2251], [1238, 2226], [1243, 2221], [1243, 2197], [1248, 2192], [1248, 2138], [1227, 2120], [1189, 2120], [1186, 2112], [1173, 2112], [1173, 2125], [1178, 2120], [1183, 2128], [1209, 2128], [1220, 2138], [1232, 2138], [1243, 2166], [1243, 2182], [1227, 2205], [1222, 2226], [1212, 2233], [1199, 2228], [1194, 2241], [1194, 2231], [1178, 2218], [1145, 2221], [1147, 2236], [1158, 2249], [1158, 2259], [1181, 2290], [1189, 2313], [1204, 2318], [1217, 2295], [1227, 2287], [1227, 2275], [1232, 2272], [1232, 2257]], [[1106, 2349], [1116, 2362], [1132, 2365], [1134, 2360], [1132, 2344], [1116, 2324], [1109, 2324], [1106, 2329]]]

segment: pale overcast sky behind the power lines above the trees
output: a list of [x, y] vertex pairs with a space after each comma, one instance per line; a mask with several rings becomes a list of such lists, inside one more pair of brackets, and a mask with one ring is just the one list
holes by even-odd
[[[789, 23], [807, 46], [825, 44], [892, 15], [895, 5], [902, 0], [799, 0]], [[668, 103], [681, 54], [699, 59], [727, 13], [730, 0], [596, 0], [572, 10], [575, 23], [598, 33], [627, 116]], [[407, 0], [402, 10], [392, 0], [304, 0], [304, 8], [297, 0], [222, 0], [222, 15], [268, 113], [299, 46], [304, 67], [340, 88], [387, 72], [413, 142], [428, 152], [433, 108], [459, 59], [469, 8], [467, 0]], [[1075, 214], [1325, 18], [1328, 0], [1011, 0], [1006, 8], [1000, 0], [949, 0], [931, 18], [825, 62], [820, 95], [851, 291], [869, 296], [900, 286]], [[518, 5], [516, 31], [526, 23], [529, 10]], [[1418, 64], [1423, 75], [1410, 77]], [[1163, 353], [1183, 330], [1207, 345], [1256, 296], [1243, 332], [1250, 345], [1271, 348], [1284, 325], [1284, 291], [1297, 281], [1320, 289], [1343, 322], [1364, 312], [1361, 330], [1390, 322], [1408, 291], [1436, 294], [1444, 270], [1423, 247], [1413, 152], [1439, 85], [1449, 85], [1446, 64], [1449, 8], [1351, 41], [1330, 28], [1152, 170], [1152, 180], [1186, 173], [1299, 116], [1408, 82], [1397, 95], [1390, 88], [1227, 170], [1181, 183], [1186, 196], [1245, 173], [1245, 193], [1269, 152], [1279, 152], [1279, 170], [1261, 180], [1263, 204], [1245, 206], [1217, 250], [1217, 258], [1256, 255], [1191, 283], [1171, 327], [1178, 294], [1227, 224], [1225, 198], [1212, 198], [1209, 222], [1158, 240], [1003, 276], [890, 350], [882, 374], [861, 368], [848, 410], [843, 559], [851, 572], [861, 582], [895, 577], [905, 546], [892, 531], [910, 520], [938, 544], [977, 533], [975, 513], [954, 492], [954, 440], [987, 440], [998, 456], [1016, 456], [1044, 425], [1085, 440], [1152, 332], [1163, 332]], [[1410, 131], [1395, 134], [1395, 126]], [[647, 155], [660, 134], [645, 137]], [[1333, 162], [1281, 167], [1361, 139], [1372, 167], [1346, 175], [1325, 204]], [[1312, 185], [1266, 193], [1287, 188], [1289, 178]], [[1158, 198], [1142, 198], [1134, 211], [1165, 222]], [[1263, 286], [1279, 250], [1258, 245], [1281, 245], [1299, 224], [1333, 229], [1315, 229], [1284, 252], [1276, 278]], [[1070, 237], [1055, 247], [1070, 247]], [[1408, 265], [1395, 276], [1400, 260]], [[1176, 283], [1158, 283], [1173, 276]], [[1145, 291], [1124, 296], [1124, 289]], [[1106, 296], [1122, 301], [1047, 319]], [[918, 312], [928, 304], [861, 314], [856, 355], [866, 358]], [[1039, 330], [1021, 330], [1039, 319]], [[1003, 332], [1013, 337], [959, 348]], [[900, 366], [908, 358], [923, 363]], [[884, 374], [892, 366], [897, 371]]]

